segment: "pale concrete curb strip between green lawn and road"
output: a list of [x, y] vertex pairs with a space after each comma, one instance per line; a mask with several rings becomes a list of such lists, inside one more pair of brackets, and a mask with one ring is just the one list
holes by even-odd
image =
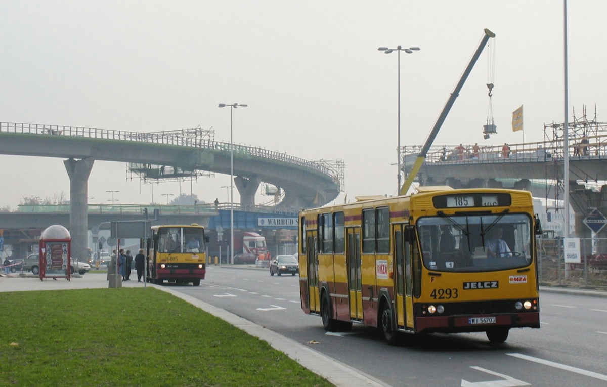
[[253, 321], [246, 320], [246, 318], [239, 317], [225, 309], [217, 308], [205, 301], [198, 300], [198, 298], [194, 298], [170, 288], [164, 288], [154, 284], [151, 284], [151, 286], [181, 298], [181, 300], [191, 303], [215, 317], [221, 318], [231, 325], [236, 326], [236, 328], [242, 329], [249, 335], [268, 342], [272, 348], [287, 354], [288, 357], [292, 358], [300, 365], [309, 369], [311, 372], [314, 372], [314, 374], [324, 377], [337, 387], [390, 387], [384, 382], [364, 374], [364, 372], [353, 369], [344, 363], [338, 362], [334, 358], [314, 351], [314, 349], [308, 348], [291, 338], [285, 337], [270, 329], [263, 328], [263, 326], [258, 325]]

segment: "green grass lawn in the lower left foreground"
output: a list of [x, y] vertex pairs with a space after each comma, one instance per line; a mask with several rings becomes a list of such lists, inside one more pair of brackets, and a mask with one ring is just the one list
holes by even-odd
[[2, 292], [0, 311], [0, 386], [331, 385], [154, 288]]

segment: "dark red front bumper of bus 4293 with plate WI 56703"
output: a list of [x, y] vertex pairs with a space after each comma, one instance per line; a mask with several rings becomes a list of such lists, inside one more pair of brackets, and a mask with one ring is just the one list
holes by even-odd
[[[487, 317], [495, 317], [495, 323], [477, 323]], [[484, 332], [493, 327], [540, 328], [540, 312], [415, 317], [417, 333]]]

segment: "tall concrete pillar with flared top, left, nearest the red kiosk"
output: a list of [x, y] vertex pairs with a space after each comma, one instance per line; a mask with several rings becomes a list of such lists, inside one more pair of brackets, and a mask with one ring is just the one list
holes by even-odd
[[72, 259], [86, 262], [87, 254], [87, 180], [93, 167], [92, 158], [63, 161], [70, 177], [70, 235], [72, 236]]

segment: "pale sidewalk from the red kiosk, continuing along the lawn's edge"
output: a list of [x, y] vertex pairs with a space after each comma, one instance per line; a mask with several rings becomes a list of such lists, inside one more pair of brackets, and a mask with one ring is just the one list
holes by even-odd
[[[265, 268], [254, 267], [240, 268], [232, 266], [232, 268], [265, 270]], [[67, 281], [65, 278], [58, 278], [56, 281], [50, 279], [41, 281], [37, 277], [19, 277], [18, 275], [15, 275], [15, 277], [0, 277], [0, 292], [107, 288], [107, 284], [106, 274], [88, 273], [83, 275], [82, 278], [72, 278], [71, 281]], [[143, 287], [143, 282], [137, 282], [137, 277], [135, 277], [135, 280], [124, 281], [122, 284], [124, 288]], [[179, 292], [178, 288], [172, 288], [171, 286], [158, 286], [155, 284], [147, 284], [147, 286], [168, 292], [175, 297], [179, 297], [197, 308], [203, 309], [203, 311], [227, 321], [228, 323], [236, 326], [236, 328], [242, 329], [255, 337], [259, 337], [261, 340], [268, 342], [274, 349], [284, 352], [288, 357], [292, 358], [300, 365], [304, 366], [315, 374], [324, 377], [336, 386], [390, 387], [385, 383], [376, 380], [370, 375], [364, 374], [364, 372], [353, 369], [350, 366], [338, 362], [334, 358], [328, 357], [327, 355], [321, 354], [320, 352], [300, 344], [291, 338], [280, 335], [274, 331], [271, 331], [270, 329], [266, 329], [261, 325], [253, 323], [252, 321], [239, 317], [236, 314], [198, 300], [197, 298], [185, 295]]]

